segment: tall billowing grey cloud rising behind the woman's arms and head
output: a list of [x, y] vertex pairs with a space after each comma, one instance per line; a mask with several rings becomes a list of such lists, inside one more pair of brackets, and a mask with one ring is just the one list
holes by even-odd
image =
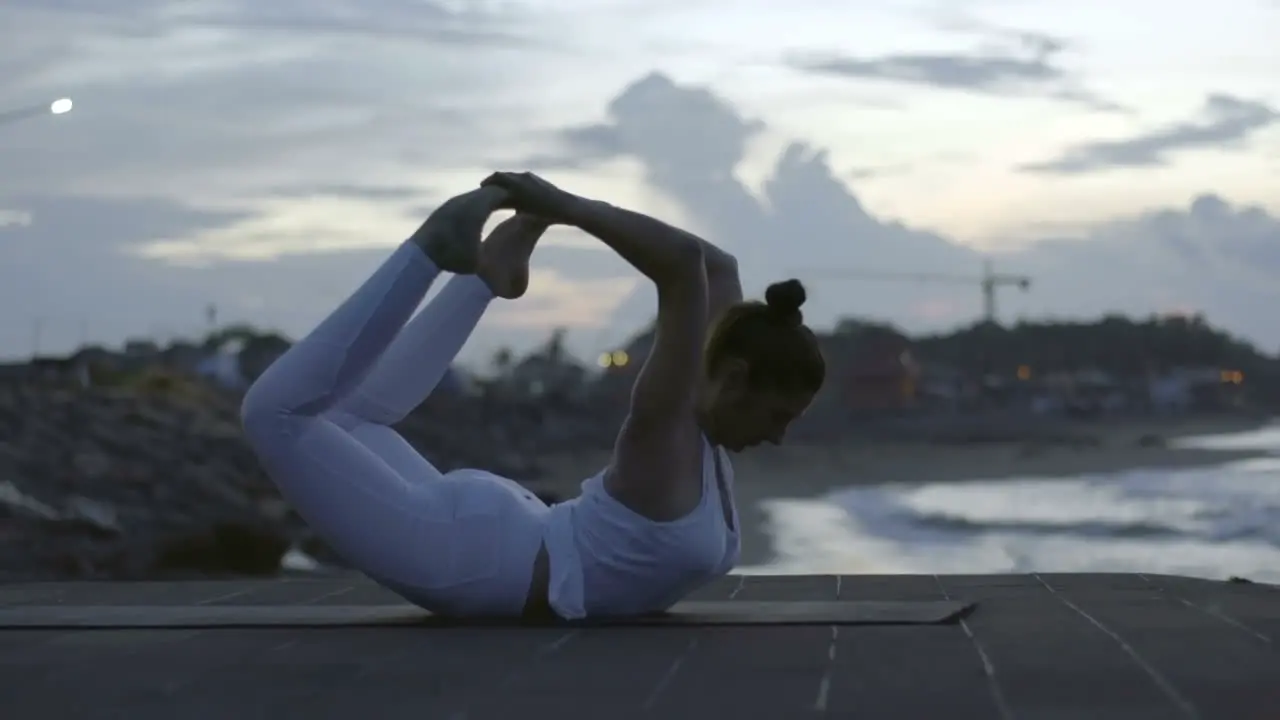
[[[791, 143], [778, 156], [758, 197], [735, 170], [765, 126], [741, 117], [704, 87], [650, 73], [627, 85], [609, 102], [607, 117], [604, 123], [567, 128], [559, 147], [538, 160], [552, 173], [621, 156], [639, 160], [649, 186], [680, 202], [698, 232], [739, 255], [744, 283], [755, 292], [814, 268], [977, 272], [980, 266], [972, 250], [868, 214], [838, 179], [827, 154], [805, 143]], [[841, 284], [815, 282], [810, 316], [831, 320], [846, 309]], [[954, 288], [941, 291], [957, 295]], [[864, 296], [859, 311], [897, 314], [908, 295], [900, 287], [884, 288]], [[653, 288], [641, 284], [614, 313], [612, 324], [639, 327], [654, 306]]]

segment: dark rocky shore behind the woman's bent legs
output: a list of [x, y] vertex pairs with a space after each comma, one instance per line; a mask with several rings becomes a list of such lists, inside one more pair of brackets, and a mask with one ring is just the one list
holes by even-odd
[[[239, 397], [174, 380], [128, 388], [0, 384], [0, 580], [273, 574], [301, 550], [335, 562], [241, 437]], [[534, 447], [598, 442], [581, 413], [430, 400], [401, 432], [442, 470], [538, 491]]]

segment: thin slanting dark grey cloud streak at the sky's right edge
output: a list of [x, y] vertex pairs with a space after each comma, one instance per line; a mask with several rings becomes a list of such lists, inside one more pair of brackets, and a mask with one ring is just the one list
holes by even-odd
[[1030, 163], [1030, 173], [1079, 174], [1115, 168], [1153, 168], [1170, 161], [1170, 155], [1187, 150], [1240, 147], [1258, 131], [1275, 124], [1280, 113], [1268, 105], [1210, 95], [1201, 119], [1174, 123], [1124, 140], [1103, 140], [1069, 147], [1060, 156]]

